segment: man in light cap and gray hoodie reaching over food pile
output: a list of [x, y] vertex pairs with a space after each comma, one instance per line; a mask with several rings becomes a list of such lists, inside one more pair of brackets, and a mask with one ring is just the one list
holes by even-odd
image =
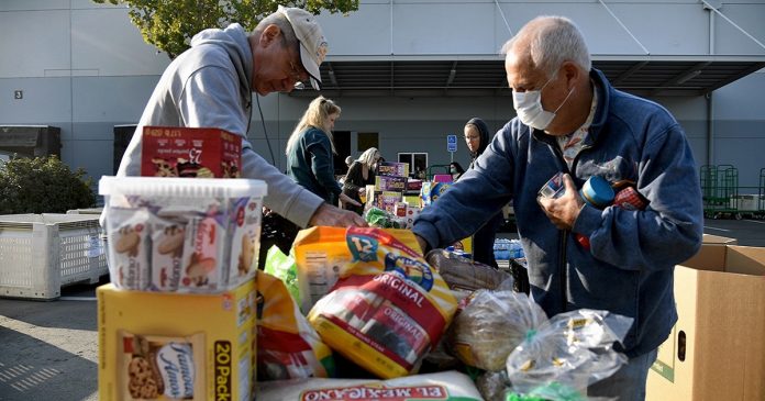
[[365, 226], [358, 214], [324, 203], [281, 174], [246, 138], [252, 92], [289, 92], [303, 81], [318, 90], [326, 49], [312, 14], [281, 5], [251, 34], [236, 23], [200, 32], [159, 78], [118, 176], [140, 175], [145, 125], [217, 127], [242, 136], [242, 177], [266, 181], [270, 210], [302, 227]]

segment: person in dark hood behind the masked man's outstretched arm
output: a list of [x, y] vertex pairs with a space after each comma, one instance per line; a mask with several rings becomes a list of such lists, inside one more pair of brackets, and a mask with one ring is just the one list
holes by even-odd
[[[478, 156], [486, 151], [491, 142], [489, 127], [486, 122], [479, 118], [473, 118], [465, 123], [464, 127], [465, 143], [467, 151], [470, 153], [470, 165], [467, 169], [475, 167]], [[480, 261], [484, 265], [499, 267], [494, 255], [494, 243], [497, 238], [497, 230], [505, 223], [505, 215], [500, 210], [495, 213], [484, 225], [473, 234], [473, 259]]]

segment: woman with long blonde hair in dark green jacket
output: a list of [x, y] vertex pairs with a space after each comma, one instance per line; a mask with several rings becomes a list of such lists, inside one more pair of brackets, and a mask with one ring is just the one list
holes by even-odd
[[287, 140], [287, 175], [326, 203], [361, 207], [342, 193], [334, 176], [333, 155], [336, 154], [332, 130], [340, 118], [340, 107], [320, 96], [311, 101]]

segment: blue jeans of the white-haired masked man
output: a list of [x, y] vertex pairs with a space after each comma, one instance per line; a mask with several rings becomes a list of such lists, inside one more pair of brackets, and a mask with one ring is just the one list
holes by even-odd
[[645, 400], [645, 380], [656, 360], [656, 349], [628, 360], [613, 376], [587, 388], [587, 397], [608, 397], [619, 401]]

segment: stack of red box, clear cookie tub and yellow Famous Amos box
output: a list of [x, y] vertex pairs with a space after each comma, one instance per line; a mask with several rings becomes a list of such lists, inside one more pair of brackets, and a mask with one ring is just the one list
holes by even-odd
[[266, 185], [231, 178], [241, 165], [237, 135], [142, 134], [144, 177], [99, 185], [111, 278], [97, 291], [100, 397], [250, 400]]

